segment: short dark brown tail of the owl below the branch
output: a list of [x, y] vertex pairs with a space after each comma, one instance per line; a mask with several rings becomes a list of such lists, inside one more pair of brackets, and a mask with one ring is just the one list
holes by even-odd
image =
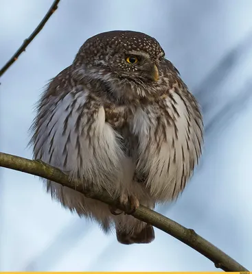
[[120, 224], [115, 225], [117, 240], [124, 245], [148, 244], [155, 238], [154, 229], [148, 223], [141, 222], [141, 225], [136, 224], [130, 230], [125, 228]]

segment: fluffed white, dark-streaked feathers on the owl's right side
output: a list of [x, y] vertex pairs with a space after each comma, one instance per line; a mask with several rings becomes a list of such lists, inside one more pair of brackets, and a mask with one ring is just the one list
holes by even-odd
[[137, 110], [133, 119], [139, 139], [136, 177], [157, 201], [176, 199], [183, 191], [203, 142], [198, 104], [179, 76], [172, 80], [168, 92]]

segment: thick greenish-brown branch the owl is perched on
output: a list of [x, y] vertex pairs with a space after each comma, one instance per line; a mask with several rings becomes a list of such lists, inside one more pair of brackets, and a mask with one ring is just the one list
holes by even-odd
[[[28, 160], [0, 152], [0, 166], [49, 179], [61, 184], [62, 186], [82, 192], [86, 197], [98, 199], [109, 205], [117, 206], [120, 210], [124, 210], [122, 205], [120, 205], [118, 201], [113, 200], [106, 190], [97, 193], [93, 192], [92, 189], [84, 189], [81, 182], [74, 180], [70, 181], [69, 177], [62, 173], [62, 171], [45, 164], [41, 160]], [[227, 254], [212, 245], [211, 242], [208, 242], [196, 234], [193, 229], [187, 229], [182, 225], [179, 225], [179, 223], [176, 223], [144, 206], [139, 206], [133, 216], [141, 221], [150, 223], [151, 225], [154, 225], [154, 227], [163, 230], [163, 232], [181, 240], [181, 242], [184, 242], [186, 245], [192, 247], [214, 262], [217, 268], [232, 272], [248, 271], [244, 266], [240, 265], [231, 257], [227, 256]]]

